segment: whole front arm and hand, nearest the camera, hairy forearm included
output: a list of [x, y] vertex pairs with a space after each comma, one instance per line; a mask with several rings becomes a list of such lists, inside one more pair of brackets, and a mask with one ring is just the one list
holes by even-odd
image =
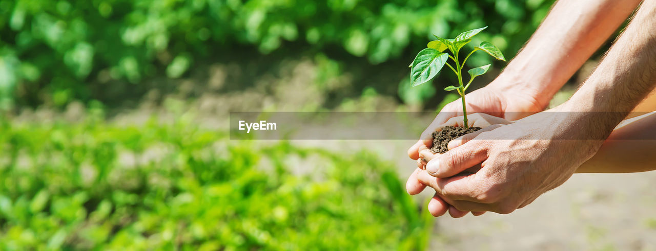
[[[428, 161], [436, 192], [461, 211], [508, 214], [560, 186], [653, 90], [653, 31], [656, 0], [644, 1], [596, 71], [563, 105], [472, 133], [475, 141], [456, 142]], [[477, 173], [453, 176], [478, 164]]]

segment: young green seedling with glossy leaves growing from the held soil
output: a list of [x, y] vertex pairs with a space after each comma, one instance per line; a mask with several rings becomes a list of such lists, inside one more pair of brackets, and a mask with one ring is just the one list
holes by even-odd
[[[440, 72], [440, 69], [442, 69], [444, 65], [447, 65], [451, 71], [453, 71], [455, 75], [458, 76], [459, 86], [449, 86], [444, 88], [444, 90], [456, 90], [460, 95], [462, 99], [462, 114], [464, 114], [464, 127], [469, 127], [467, 124], [467, 109], [464, 103], [464, 92], [467, 90], [467, 88], [469, 88], [469, 85], [472, 84], [472, 80], [474, 80], [476, 76], [485, 74], [487, 69], [490, 67], [490, 65], [483, 65], [481, 67], [470, 69], [467, 71], [470, 76], [469, 81], [467, 84], [462, 84], [461, 71], [462, 67], [464, 67], [464, 63], [467, 61], [469, 56], [472, 56], [472, 54], [478, 50], [487, 52], [487, 54], [493, 56], [496, 59], [506, 61], [506, 59], [503, 57], [503, 54], [501, 54], [501, 50], [499, 50], [497, 46], [494, 46], [490, 42], [481, 42], [479, 46], [474, 47], [474, 50], [472, 50], [472, 52], [464, 57], [462, 62], [459, 60], [460, 49], [468, 42], [471, 42], [472, 37], [474, 37], [474, 35], [478, 34], [485, 28], [487, 28], [487, 26], [478, 29], [472, 29], [471, 31], [465, 31], [460, 33], [460, 35], [458, 35], [458, 37], [455, 39], [443, 39], [434, 35], [438, 40], [428, 42], [428, 48], [421, 50], [419, 54], [417, 54], [415, 61], [413, 61], [413, 63], [410, 65], [412, 68], [410, 70], [410, 80], [412, 87], [424, 84], [425, 82], [428, 82], [428, 80], [434, 78], [434, 76]], [[447, 49], [449, 49], [451, 55], [443, 52]], [[447, 62], [447, 59], [449, 58], [453, 60], [455, 67]]]

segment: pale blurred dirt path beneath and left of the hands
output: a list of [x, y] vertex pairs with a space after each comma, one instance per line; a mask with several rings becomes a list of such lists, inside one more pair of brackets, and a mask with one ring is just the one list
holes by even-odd
[[[295, 144], [317, 146], [316, 141]], [[405, 179], [415, 168], [405, 156], [413, 141], [332, 141], [323, 146], [363, 147], [394, 161]], [[488, 212], [436, 218], [432, 250], [656, 250], [656, 171], [577, 174], [512, 214]], [[432, 192], [417, 195], [419, 205]]]

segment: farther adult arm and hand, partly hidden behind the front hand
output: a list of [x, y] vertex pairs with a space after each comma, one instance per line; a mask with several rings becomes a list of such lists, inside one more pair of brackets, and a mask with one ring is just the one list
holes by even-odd
[[[487, 112], [517, 120], [542, 111], [554, 93], [617, 30], [638, 3], [638, 0], [558, 1], [504, 71], [484, 88], [466, 95], [468, 113]], [[419, 149], [430, 148], [432, 144], [432, 131], [459, 115], [462, 115], [461, 101], [447, 104], [420, 140], [409, 148], [409, 157], [419, 158]], [[406, 186], [410, 194], [417, 194], [424, 187], [414, 176]], [[441, 214], [447, 210], [451, 216], [466, 214], [453, 207], [449, 209], [439, 200], [436, 196], [430, 205], [438, 208]]]

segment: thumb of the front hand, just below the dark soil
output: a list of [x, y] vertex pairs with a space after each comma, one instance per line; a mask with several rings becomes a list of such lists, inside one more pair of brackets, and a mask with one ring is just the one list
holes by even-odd
[[440, 157], [428, 161], [426, 171], [438, 178], [447, 178], [473, 167], [487, 159], [487, 148], [478, 144], [462, 144]]

